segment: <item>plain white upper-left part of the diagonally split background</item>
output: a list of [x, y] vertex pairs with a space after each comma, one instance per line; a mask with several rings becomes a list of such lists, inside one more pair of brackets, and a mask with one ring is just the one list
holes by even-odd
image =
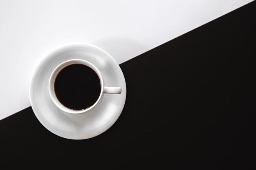
[[121, 64], [251, 1], [0, 0], [0, 119], [30, 106], [30, 76], [59, 46], [94, 44]]

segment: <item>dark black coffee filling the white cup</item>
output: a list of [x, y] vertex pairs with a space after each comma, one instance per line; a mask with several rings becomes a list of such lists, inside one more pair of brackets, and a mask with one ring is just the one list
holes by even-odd
[[92, 106], [101, 93], [97, 73], [83, 64], [63, 68], [54, 82], [54, 91], [63, 106], [83, 110]]

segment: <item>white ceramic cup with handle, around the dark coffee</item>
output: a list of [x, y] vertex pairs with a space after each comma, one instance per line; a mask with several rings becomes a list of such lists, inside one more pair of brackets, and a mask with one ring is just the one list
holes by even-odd
[[[71, 64], [83, 64], [85, 66], [88, 66], [88, 67], [92, 68], [95, 71], [95, 73], [97, 73], [97, 75], [99, 76], [99, 80], [101, 83], [101, 93], [100, 93], [97, 101], [89, 108], [86, 108], [83, 110], [72, 110], [70, 108], [63, 106], [63, 104], [61, 104], [61, 102], [59, 102], [58, 98], [56, 97], [56, 94], [54, 92], [54, 82], [55, 82], [56, 76], [63, 68], [65, 68], [66, 66], [69, 66]], [[63, 110], [64, 112], [72, 113], [72, 114], [80, 114], [80, 113], [88, 112], [89, 110], [92, 110], [93, 108], [95, 108], [101, 102], [101, 99], [102, 99], [104, 93], [121, 94], [121, 90], [122, 90], [121, 87], [106, 87], [104, 84], [104, 81], [103, 81], [103, 77], [102, 77], [100, 71], [98, 70], [98, 68], [90, 62], [85, 61], [85, 60], [80, 60], [80, 59], [67, 60], [67, 61], [59, 64], [54, 69], [54, 71], [52, 72], [52, 75], [50, 76], [50, 79], [49, 79], [49, 94], [50, 94], [50, 97], [52, 98], [52, 101], [59, 109]]]

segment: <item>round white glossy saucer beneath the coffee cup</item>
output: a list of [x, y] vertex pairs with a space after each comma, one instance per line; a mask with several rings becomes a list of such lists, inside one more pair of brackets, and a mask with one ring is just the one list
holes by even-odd
[[[105, 94], [93, 110], [82, 114], [65, 113], [50, 98], [49, 77], [59, 64], [82, 59], [94, 64], [106, 86], [121, 87], [120, 95]], [[96, 46], [74, 44], [61, 47], [36, 67], [29, 85], [29, 99], [38, 120], [54, 134], [67, 139], [88, 139], [105, 132], [120, 116], [126, 100], [126, 82], [117, 62]]]

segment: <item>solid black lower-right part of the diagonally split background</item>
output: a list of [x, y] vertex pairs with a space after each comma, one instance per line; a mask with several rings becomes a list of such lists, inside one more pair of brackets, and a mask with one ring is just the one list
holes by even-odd
[[1, 120], [0, 166], [255, 169], [255, 21], [252, 2], [120, 64], [126, 104], [97, 137], [58, 137], [31, 107]]

